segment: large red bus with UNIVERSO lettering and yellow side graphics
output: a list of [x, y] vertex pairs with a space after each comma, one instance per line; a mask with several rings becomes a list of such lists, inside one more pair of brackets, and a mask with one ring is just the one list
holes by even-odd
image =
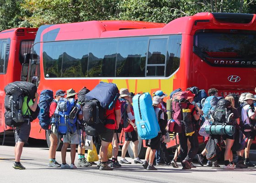
[[[38, 92], [93, 89], [105, 81], [135, 94], [159, 89], [170, 94], [191, 86], [206, 91], [214, 87], [219, 95], [253, 93], [255, 18], [198, 13], [168, 24], [87, 21], [41, 26], [27, 80], [37, 84]], [[33, 121], [30, 137], [45, 139], [39, 130]], [[175, 144], [171, 141], [168, 147]]]

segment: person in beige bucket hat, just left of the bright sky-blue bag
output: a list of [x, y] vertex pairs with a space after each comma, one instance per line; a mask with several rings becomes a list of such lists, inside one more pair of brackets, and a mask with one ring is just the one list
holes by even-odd
[[122, 147], [122, 156], [120, 163], [122, 164], [131, 164], [125, 159], [125, 155], [127, 152], [127, 148], [130, 144], [130, 141], [133, 142], [133, 155], [134, 155], [134, 163], [142, 164], [143, 162], [138, 157], [138, 133], [136, 131], [137, 126], [135, 124], [135, 117], [133, 112], [133, 96], [132, 93], [129, 92], [128, 89], [120, 89], [120, 98], [119, 101], [121, 103], [121, 112], [123, 123], [123, 132], [125, 136], [125, 141]]

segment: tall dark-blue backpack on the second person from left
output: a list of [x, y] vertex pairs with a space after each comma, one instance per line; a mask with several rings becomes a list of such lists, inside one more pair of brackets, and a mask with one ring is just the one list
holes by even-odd
[[53, 102], [53, 91], [49, 89], [44, 89], [40, 93], [39, 98], [39, 108], [40, 113], [38, 115], [39, 124], [43, 130], [48, 130], [51, 123], [51, 118], [49, 117], [50, 105]]

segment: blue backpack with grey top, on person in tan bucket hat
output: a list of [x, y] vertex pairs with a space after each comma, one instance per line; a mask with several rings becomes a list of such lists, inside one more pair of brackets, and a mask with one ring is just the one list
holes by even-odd
[[76, 114], [78, 110], [76, 110], [76, 114], [72, 114], [72, 117], [70, 117], [70, 112], [74, 111], [74, 108], [75, 99], [59, 99], [54, 119], [60, 135], [66, 135], [68, 132], [71, 134], [75, 132], [77, 119]]

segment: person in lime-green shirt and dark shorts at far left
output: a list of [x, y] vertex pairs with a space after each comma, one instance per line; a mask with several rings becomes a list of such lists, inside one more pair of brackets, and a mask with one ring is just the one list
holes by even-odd
[[[32, 99], [28, 100], [28, 96], [24, 96], [23, 103], [21, 107], [21, 114], [24, 116], [24, 122], [15, 128], [15, 148], [14, 148], [14, 154], [15, 154], [15, 163], [13, 164], [13, 167], [15, 169], [24, 170], [26, 169], [20, 162], [21, 160], [21, 153], [23, 150], [24, 144], [27, 142], [31, 124], [29, 115], [31, 115], [30, 110], [32, 112], [35, 112], [37, 110], [37, 100], [38, 100], [38, 94], [35, 93], [35, 101]], [[29, 110], [30, 109], [30, 110]]]

